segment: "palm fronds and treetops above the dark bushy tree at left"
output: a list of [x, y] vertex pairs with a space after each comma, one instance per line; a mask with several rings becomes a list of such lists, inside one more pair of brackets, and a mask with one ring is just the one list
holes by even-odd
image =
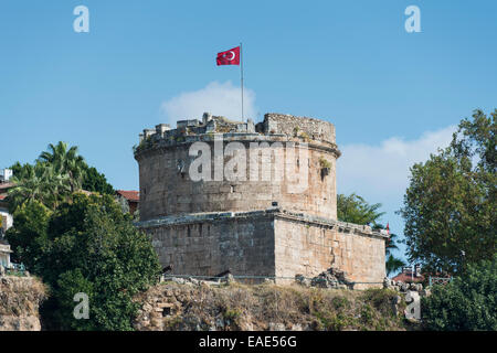
[[113, 194], [114, 189], [105, 175], [86, 164], [77, 153], [77, 147], [67, 147], [60, 141], [49, 145], [49, 151], [40, 154], [34, 164], [11, 167], [12, 181], [17, 184], [9, 191], [9, 207], [13, 213], [24, 201], [34, 200], [55, 210], [61, 203], [71, 200], [75, 191], [86, 190], [102, 194]]

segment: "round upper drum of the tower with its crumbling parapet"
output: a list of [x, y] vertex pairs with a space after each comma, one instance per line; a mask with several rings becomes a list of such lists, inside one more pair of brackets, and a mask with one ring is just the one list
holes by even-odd
[[254, 125], [204, 114], [140, 133], [140, 221], [282, 207], [337, 218], [335, 127], [266, 114]]

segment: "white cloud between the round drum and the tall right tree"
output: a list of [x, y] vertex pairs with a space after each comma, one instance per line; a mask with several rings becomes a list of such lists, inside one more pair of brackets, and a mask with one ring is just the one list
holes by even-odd
[[415, 140], [392, 137], [379, 146], [343, 146], [337, 162], [338, 192], [357, 192], [371, 202], [401, 202], [409, 185], [410, 167], [447, 147], [455, 130], [455, 126], [450, 126], [426, 131]]

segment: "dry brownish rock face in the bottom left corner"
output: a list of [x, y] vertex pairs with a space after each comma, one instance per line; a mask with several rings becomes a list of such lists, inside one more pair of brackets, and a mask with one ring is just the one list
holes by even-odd
[[0, 331], [40, 331], [43, 284], [34, 277], [0, 277]]

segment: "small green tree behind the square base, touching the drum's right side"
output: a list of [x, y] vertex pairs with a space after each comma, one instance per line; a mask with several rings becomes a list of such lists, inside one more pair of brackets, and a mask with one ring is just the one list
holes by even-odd
[[384, 212], [378, 212], [380, 207], [381, 203], [370, 205], [356, 193], [349, 196], [343, 194], [337, 196], [338, 220], [342, 222], [374, 225], [384, 214]]

